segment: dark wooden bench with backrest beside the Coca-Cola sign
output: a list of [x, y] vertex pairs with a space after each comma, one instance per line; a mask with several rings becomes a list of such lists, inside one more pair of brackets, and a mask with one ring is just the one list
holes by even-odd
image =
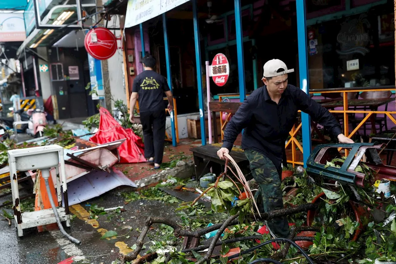
[[[241, 103], [239, 102], [209, 102], [209, 109], [211, 110], [211, 115], [213, 117], [212, 121], [214, 135], [217, 135], [217, 121], [215, 118], [216, 112], [227, 112], [234, 114], [240, 105]], [[190, 149], [194, 155], [195, 175], [197, 179], [208, 173], [210, 168], [212, 168], [213, 173], [216, 175], [219, 175], [224, 171], [225, 161], [217, 157], [217, 151], [221, 147], [221, 144], [218, 143], [218, 141], [218, 137], [215, 136], [213, 140], [215, 143]], [[240, 141], [241, 135], [238, 136], [234, 144], [240, 145]], [[235, 160], [235, 162], [238, 163], [238, 166], [241, 168], [244, 174], [249, 172], [249, 161], [246, 159], [243, 149], [233, 147], [230, 155]]]

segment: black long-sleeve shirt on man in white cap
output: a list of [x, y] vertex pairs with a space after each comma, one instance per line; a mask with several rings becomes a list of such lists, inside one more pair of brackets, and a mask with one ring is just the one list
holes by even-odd
[[296, 122], [298, 110], [308, 113], [333, 136], [342, 133], [333, 115], [299, 88], [288, 84], [276, 104], [268, 95], [267, 86], [263, 86], [246, 97], [228, 122], [223, 147], [231, 151], [236, 137], [244, 129], [242, 149], [262, 153], [279, 167], [282, 159], [286, 163], [285, 141]]

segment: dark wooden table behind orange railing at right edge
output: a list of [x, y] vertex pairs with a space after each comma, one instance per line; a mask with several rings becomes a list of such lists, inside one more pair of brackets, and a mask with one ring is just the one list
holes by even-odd
[[[356, 110], [362, 110], [369, 108], [371, 111], [377, 111], [378, 107], [381, 105], [385, 105], [390, 102], [394, 102], [395, 98], [381, 98], [381, 99], [349, 99], [348, 100], [348, 109], [349, 107], [354, 107]], [[335, 108], [335, 107], [343, 107], [343, 100], [332, 100], [329, 102], [321, 103], [323, 107], [327, 109]], [[375, 116], [373, 114], [370, 116], [371, 121], [371, 134], [377, 134], [377, 129], [375, 128]], [[345, 125], [345, 124], [344, 124]]]

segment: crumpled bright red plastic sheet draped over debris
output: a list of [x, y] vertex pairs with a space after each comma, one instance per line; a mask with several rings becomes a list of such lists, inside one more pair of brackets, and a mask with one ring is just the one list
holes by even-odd
[[132, 129], [123, 128], [118, 124], [107, 109], [101, 107], [99, 113], [99, 130], [89, 141], [105, 144], [126, 138], [125, 142], [118, 147], [120, 163], [145, 162], [146, 159], [144, 157], [144, 144], [142, 139], [136, 136]]

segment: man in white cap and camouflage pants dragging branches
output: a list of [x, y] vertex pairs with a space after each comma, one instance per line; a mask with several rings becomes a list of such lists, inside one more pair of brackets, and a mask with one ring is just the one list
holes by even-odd
[[[255, 90], [236, 111], [224, 131], [223, 146], [217, 155], [225, 159], [238, 134], [242, 134], [242, 148], [250, 162], [250, 169], [259, 184], [258, 195], [263, 199], [261, 210], [267, 212], [283, 208], [280, 175], [286, 165], [285, 141], [297, 119], [297, 111], [308, 113], [323, 125], [340, 143], [354, 143], [342, 134], [341, 126], [326, 108], [299, 88], [287, 84], [287, 69], [279, 59], [265, 63], [264, 86]], [[267, 222], [272, 233], [289, 235], [286, 217]]]

